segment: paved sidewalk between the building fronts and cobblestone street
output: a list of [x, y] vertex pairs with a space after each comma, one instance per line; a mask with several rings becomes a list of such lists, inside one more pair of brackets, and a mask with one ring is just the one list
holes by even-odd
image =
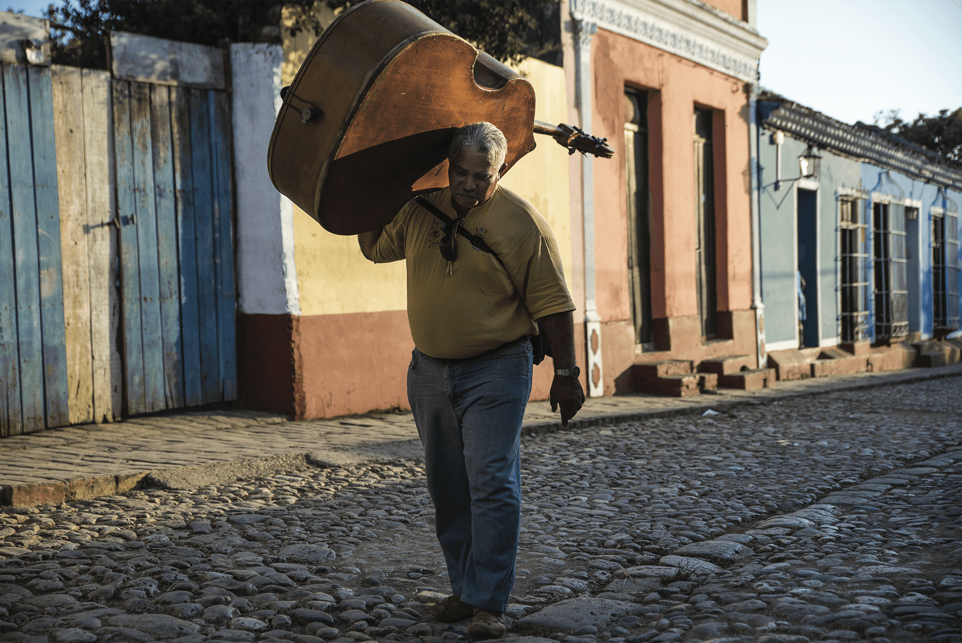
[[[569, 428], [701, 414], [708, 408], [960, 374], [962, 364], [955, 364], [779, 382], [755, 392], [722, 389], [717, 395], [689, 399], [641, 394], [595, 398], [587, 400]], [[528, 404], [526, 435], [560, 428], [548, 402]], [[311, 465], [419, 456], [418, 431], [410, 413], [289, 422], [284, 416], [257, 411], [170, 412], [0, 439], [0, 504], [84, 500], [123, 493], [140, 483], [191, 488]]]

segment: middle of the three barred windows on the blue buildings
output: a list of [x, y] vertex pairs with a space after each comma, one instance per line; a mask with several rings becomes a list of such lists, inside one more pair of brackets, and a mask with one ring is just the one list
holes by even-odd
[[905, 208], [873, 204], [875, 340], [908, 335], [908, 260], [905, 257]]

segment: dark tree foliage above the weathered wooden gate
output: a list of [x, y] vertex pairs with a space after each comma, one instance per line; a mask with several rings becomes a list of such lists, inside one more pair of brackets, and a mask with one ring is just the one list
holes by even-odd
[[226, 42], [280, 41], [281, 10], [293, 13], [291, 35], [320, 34], [314, 0], [61, 0], [47, 12], [56, 29], [54, 63], [107, 66], [105, 34], [126, 31], [211, 46]]

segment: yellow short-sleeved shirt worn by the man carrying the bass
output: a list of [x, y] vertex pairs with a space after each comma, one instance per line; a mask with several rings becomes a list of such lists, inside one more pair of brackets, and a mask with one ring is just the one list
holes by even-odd
[[[424, 194], [456, 219], [451, 193]], [[416, 201], [401, 208], [374, 244], [375, 263], [407, 260], [408, 323], [415, 346], [439, 359], [473, 357], [537, 333], [545, 315], [574, 310], [558, 244], [534, 206], [498, 186], [461, 226], [484, 239], [504, 262], [457, 239], [458, 258], [441, 256], [440, 219]]]

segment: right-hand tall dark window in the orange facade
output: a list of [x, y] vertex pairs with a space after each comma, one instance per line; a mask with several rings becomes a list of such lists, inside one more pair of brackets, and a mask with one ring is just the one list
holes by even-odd
[[712, 163], [712, 113], [695, 111], [695, 199], [698, 224], [696, 280], [698, 317], [706, 339], [718, 335], [715, 282], [715, 166]]

